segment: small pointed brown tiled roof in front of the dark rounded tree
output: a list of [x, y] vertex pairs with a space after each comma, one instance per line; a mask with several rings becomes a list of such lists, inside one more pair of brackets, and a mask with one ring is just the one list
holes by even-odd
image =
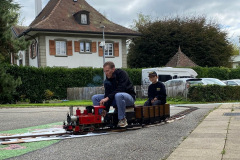
[[178, 52], [166, 64], [166, 67], [196, 67], [195, 64], [188, 56], [186, 56], [179, 46]]

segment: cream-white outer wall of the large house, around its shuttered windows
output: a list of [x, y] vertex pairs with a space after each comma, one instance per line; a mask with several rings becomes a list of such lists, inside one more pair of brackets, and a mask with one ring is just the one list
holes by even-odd
[[[49, 40], [50, 39], [67, 39], [72, 41], [72, 49], [73, 49], [73, 56], [68, 58], [59, 58], [54, 56], [49, 56]], [[26, 65], [27, 66], [35, 66], [35, 67], [47, 67], [47, 66], [59, 66], [58, 62], [62, 62], [63, 66], [68, 68], [75, 68], [73, 64], [76, 66], [76, 59], [79, 59], [79, 63], [82, 64], [81, 66], [76, 67], [102, 67], [102, 58], [98, 56], [98, 49], [96, 53], [92, 54], [85, 54], [81, 55], [79, 53], [74, 52], [74, 41], [79, 40], [81, 38], [84, 39], [92, 39], [93, 41], [98, 42], [102, 41], [102, 36], [94, 36], [94, 35], [69, 35], [69, 34], [54, 34], [54, 33], [44, 33], [38, 34], [36, 39], [38, 40], [38, 57], [35, 59], [31, 59], [29, 56], [29, 52], [26, 52]], [[117, 36], [106, 36], [106, 41], [115, 41], [119, 42], [119, 57], [110, 57], [105, 58], [105, 61], [113, 61], [118, 68], [127, 68], [127, 46], [126, 46], [126, 38], [125, 37], [117, 37]], [[98, 48], [98, 47], [97, 47]], [[83, 58], [87, 61], [91, 60], [87, 64], [84, 64]], [[50, 60], [50, 59], [51, 60]], [[27, 60], [28, 59], [28, 60]], [[56, 59], [56, 60], [55, 60]], [[72, 60], [70, 60], [72, 59]], [[70, 61], [69, 61], [70, 60]], [[57, 62], [58, 61], [58, 62]], [[96, 65], [98, 64], [98, 65]], [[86, 65], [86, 66], [85, 66]]]

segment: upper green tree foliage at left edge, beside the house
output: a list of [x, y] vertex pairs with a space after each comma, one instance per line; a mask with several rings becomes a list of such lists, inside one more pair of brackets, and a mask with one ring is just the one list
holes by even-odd
[[19, 4], [13, 0], [1, 0], [0, 3], [0, 62], [10, 63], [11, 53], [24, 50], [28, 43], [22, 38], [14, 38], [11, 28], [19, 18]]

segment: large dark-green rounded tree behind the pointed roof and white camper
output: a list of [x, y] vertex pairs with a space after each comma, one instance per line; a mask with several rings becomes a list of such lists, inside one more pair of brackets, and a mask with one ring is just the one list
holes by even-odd
[[199, 66], [230, 67], [232, 44], [227, 33], [206, 17], [175, 17], [151, 22], [141, 16], [135, 22], [141, 37], [129, 45], [128, 65], [132, 68], [160, 67], [176, 54], [179, 46]]

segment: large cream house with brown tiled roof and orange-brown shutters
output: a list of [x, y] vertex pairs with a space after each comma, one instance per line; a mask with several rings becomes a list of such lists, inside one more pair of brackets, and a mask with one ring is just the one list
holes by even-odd
[[126, 68], [126, 41], [140, 36], [109, 21], [85, 0], [50, 0], [28, 27], [12, 30], [31, 41], [12, 63], [35, 67], [99, 68], [105, 60]]

